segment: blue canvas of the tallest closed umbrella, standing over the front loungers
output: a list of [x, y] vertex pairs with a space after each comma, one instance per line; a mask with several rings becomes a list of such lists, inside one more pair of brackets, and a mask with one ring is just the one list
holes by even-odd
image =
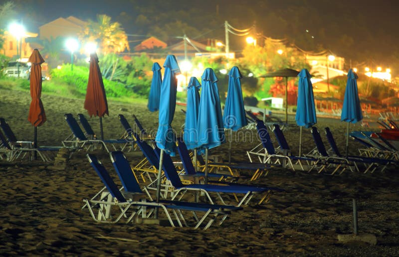
[[159, 126], [155, 141], [157, 146], [171, 156], [176, 155], [175, 133], [172, 129], [176, 109], [177, 79], [180, 68], [176, 57], [168, 55], [164, 63], [165, 73], [159, 103]]

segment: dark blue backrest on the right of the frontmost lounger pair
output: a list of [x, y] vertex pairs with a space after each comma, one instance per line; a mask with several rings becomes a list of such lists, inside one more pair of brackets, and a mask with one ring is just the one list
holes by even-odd
[[109, 156], [116, 173], [118, 173], [118, 176], [121, 179], [123, 188], [125, 188], [127, 192], [142, 193], [143, 191], [140, 188], [139, 182], [137, 182], [137, 178], [123, 152], [111, 152], [109, 153]]

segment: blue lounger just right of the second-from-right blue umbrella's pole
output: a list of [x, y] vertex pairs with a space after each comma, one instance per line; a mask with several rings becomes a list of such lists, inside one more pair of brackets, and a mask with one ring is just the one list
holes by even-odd
[[319, 158], [324, 161], [321, 169], [318, 170], [318, 173], [327, 169], [333, 169], [331, 175], [335, 174], [337, 171], [339, 171], [339, 174], [342, 174], [342, 172], [344, 172], [347, 168], [353, 171], [353, 162], [350, 162], [348, 159], [343, 157], [330, 156], [327, 153], [326, 147], [324, 146], [323, 140], [321, 139], [320, 133], [316, 127], [311, 127], [310, 131], [312, 133], [312, 137], [316, 147], [305, 156]]

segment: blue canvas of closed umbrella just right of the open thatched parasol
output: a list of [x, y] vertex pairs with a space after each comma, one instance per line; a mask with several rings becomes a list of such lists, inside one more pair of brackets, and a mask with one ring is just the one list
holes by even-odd
[[302, 69], [298, 77], [298, 102], [295, 121], [298, 126], [310, 128], [317, 123], [311, 76], [307, 69]]

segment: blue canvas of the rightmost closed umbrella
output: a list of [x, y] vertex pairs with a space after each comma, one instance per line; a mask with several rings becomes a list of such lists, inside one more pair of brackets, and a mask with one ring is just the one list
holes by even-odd
[[358, 94], [358, 75], [352, 69], [348, 71], [348, 81], [345, 88], [344, 104], [341, 121], [356, 123], [363, 119], [362, 108]]

